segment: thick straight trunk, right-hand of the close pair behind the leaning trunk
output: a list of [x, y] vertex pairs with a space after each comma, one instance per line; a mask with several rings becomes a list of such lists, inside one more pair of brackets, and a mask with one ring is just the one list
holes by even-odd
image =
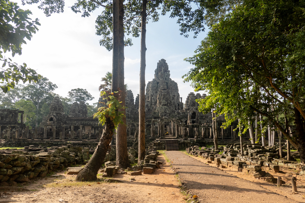
[[[123, 0], [119, 0], [119, 41], [118, 41], [118, 89], [121, 92], [118, 100], [121, 105], [125, 106], [125, 84], [124, 84], [124, 5]], [[125, 115], [125, 109], [120, 109]], [[117, 166], [127, 168], [130, 166], [127, 152], [127, 129], [126, 117], [123, 117], [124, 124], [117, 126], [116, 134], [116, 152], [117, 152]]]

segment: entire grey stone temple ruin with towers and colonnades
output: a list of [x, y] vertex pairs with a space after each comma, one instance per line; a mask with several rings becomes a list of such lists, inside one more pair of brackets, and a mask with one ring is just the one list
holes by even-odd
[[[206, 94], [189, 93], [185, 103], [180, 97], [178, 84], [170, 78], [170, 70], [166, 60], [157, 63], [155, 75], [146, 86], [145, 93], [145, 139], [147, 147], [155, 142], [154, 146], [164, 149], [160, 140], [179, 140], [179, 148], [185, 149], [191, 145], [187, 140], [195, 143], [204, 138], [212, 138], [212, 115], [198, 111], [196, 99], [205, 98]], [[131, 90], [126, 91], [126, 125], [128, 147], [137, 148], [138, 142], [138, 109], [139, 95], [134, 98]], [[106, 100], [99, 98], [99, 106], [104, 106]], [[23, 111], [0, 110], [0, 136], [7, 140], [16, 138], [53, 140], [53, 141], [98, 141], [102, 135], [102, 126], [98, 119], [88, 117], [87, 106], [84, 102], [74, 102], [70, 107], [69, 116], [64, 114], [63, 104], [59, 97], [55, 97], [50, 105], [50, 111], [39, 128], [29, 130], [23, 124]], [[21, 120], [16, 119], [21, 114]], [[223, 117], [218, 117], [218, 131], [222, 138], [235, 139], [233, 126], [231, 129], [220, 128]], [[1, 127], [2, 126], [2, 127]], [[55, 142], [54, 142], [55, 143]], [[58, 142], [59, 145], [60, 142]], [[162, 141], [164, 143], [164, 141]]]

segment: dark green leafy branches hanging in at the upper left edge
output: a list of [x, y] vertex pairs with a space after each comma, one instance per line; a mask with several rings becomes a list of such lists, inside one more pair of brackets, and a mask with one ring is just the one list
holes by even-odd
[[[10, 58], [2, 56], [2, 51], [15, 54], [21, 54], [21, 45], [26, 44], [25, 38], [31, 40], [32, 34], [38, 30], [40, 25], [38, 19], [30, 21], [29, 10], [22, 10], [17, 3], [9, 0], [0, 0], [0, 61], [3, 62], [0, 68], [0, 87], [4, 93], [13, 89], [20, 81], [23, 83], [37, 82], [41, 75], [31, 69], [27, 65], [18, 65]], [[9, 68], [4, 68], [6, 65]]]

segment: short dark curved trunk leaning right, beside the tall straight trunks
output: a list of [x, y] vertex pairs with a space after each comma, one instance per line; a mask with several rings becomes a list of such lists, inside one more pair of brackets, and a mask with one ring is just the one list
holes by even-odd
[[99, 140], [99, 144], [90, 158], [89, 162], [85, 165], [84, 169], [78, 173], [76, 181], [94, 181], [97, 179], [96, 174], [101, 168], [107, 151], [110, 149], [110, 142], [113, 136], [114, 124], [109, 117], [106, 117], [105, 129]]

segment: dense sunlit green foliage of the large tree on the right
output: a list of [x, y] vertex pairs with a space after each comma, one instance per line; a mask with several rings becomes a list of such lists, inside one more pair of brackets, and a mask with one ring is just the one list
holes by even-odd
[[[303, 125], [304, 9], [302, 1], [247, 0], [214, 25], [196, 55], [186, 59], [196, 67], [185, 81], [209, 93], [198, 100], [199, 110], [216, 108], [218, 116], [225, 115], [224, 127], [240, 119], [244, 132], [257, 113], [264, 126], [271, 122], [282, 132], [284, 117]], [[297, 114], [303, 121], [296, 122]]]

